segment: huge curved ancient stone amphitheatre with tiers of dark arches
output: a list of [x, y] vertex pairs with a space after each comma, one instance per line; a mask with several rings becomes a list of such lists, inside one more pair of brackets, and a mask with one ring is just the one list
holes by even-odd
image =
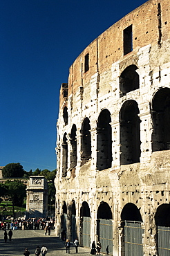
[[170, 255], [169, 25], [170, 0], [147, 1], [89, 44], [61, 86], [56, 233], [80, 246]]

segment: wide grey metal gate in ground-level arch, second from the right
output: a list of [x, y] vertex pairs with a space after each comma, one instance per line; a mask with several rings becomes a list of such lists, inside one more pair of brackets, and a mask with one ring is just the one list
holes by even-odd
[[144, 229], [141, 228], [141, 222], [125, 221], [124, 225], [124, 252], [125, 256], [142, 256], [143, 244], [142, 234]]

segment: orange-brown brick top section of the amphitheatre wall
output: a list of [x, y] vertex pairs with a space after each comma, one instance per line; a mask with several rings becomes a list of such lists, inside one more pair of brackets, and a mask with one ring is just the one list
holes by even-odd
[[[84, 86], [95, 73], [103, 73], [114, 62], [134, 57], [139, 48], [158, 44], [169, 38], [170, 0], [149, 0], [104, 31], [77, 57], [70, 66], [68, 77], [68, 96]], [[124, 52], [126, 35], [131, 30], [132, 49]], [[128, 35], [127, 35], [128, 36]], [[127, 42], [128, 43], [128, 42]], [[60, 107], [66, 98], [60, 91]]]

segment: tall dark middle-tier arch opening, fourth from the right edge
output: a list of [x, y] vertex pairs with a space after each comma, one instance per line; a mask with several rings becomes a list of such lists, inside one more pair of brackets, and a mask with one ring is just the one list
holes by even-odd
[[91, 125], [88, 118], [84, 118], [81, 129], [81, 165], [91, 158]]

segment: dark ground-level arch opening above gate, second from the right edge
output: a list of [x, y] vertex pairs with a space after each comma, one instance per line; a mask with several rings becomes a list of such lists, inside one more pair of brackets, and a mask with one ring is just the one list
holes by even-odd
[[133, 203], [126, 203], [121, 212], [121, 220], [122, 221], [141, 221], [142, 217], [140, 214], [140, 210]]

